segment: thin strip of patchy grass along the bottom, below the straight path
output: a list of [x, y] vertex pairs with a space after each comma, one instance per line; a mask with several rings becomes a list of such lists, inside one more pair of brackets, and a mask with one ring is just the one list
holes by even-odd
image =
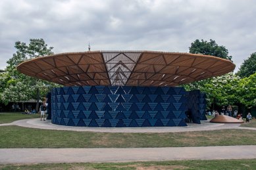
[[256, 169], [256, 159], [145, 161], [129, 163], [40, 163], [0, 165], [0, 169]]

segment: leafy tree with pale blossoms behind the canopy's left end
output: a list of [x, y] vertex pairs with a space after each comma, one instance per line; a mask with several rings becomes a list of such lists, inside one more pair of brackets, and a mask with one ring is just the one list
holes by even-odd
[[[43, 89], [49, 89], [50, 87], [56, 85], [54, 83], [49, 83], [47, 81], [35, 79], [33, 77], [20, 74], [16, 70], [16, 66], [28, 59], [53, 54], [53, 52], [51, 51], [53, 47], [48, 48], [47, 44], [43, 39], [30, 39], [30, 43], [28, 45], [26, 45], [26, 43], [17, 41], [14, 47], [17, 49], [17, 51], [13, 54], [13, 57], [7, 61], [8, 66], [6, 69], [7, 73], [14, 80], [14, 83], [13, 85], [9, 85], [9, 89], [5, 89], [5, 91], [3, 92], [3, 94], [5, 94], [6, 96], [10, 96], [10, 100], [7, 100], [6, 97], [3, 95], [1, 95], [1, 98], [5, 101], [5, 103], [6, 101], [22, 102], [24, 100], [34, 98], [37, 100], [36, 110], [38, 110], [39, 100], [41, 99], [40, 93], [43, 91], [45, 93], [45, 90]], [[22, 85], [18, 87], [20, 83], [22, 83]], [[26, 89], [29, 89], [29, 91], [27, 91]], [[12, 97], [13, 91], [15, 93], [18, 93], [17, 96], [19, 97]]]

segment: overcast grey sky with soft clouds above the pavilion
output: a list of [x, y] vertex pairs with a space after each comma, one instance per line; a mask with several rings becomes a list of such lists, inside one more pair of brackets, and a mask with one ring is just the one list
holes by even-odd
[[42, 38], [53, 52], [187, 53], [195, 39], [228, 49], [238, 71], [256, 52], [256, 1], [1, 0], [0, 69], [14, 43]]

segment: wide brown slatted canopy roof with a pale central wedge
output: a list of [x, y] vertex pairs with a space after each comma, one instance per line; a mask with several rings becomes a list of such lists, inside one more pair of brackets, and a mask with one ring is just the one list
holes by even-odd
[[233, 71], [230, 60], [190, 53], [88, 51], [41, 56], [17, 69], [65, 86], [177, 86]]

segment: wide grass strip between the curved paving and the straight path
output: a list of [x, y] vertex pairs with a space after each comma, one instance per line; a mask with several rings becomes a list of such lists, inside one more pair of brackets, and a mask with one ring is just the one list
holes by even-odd
[[182, 133], [95, 133], [0, 127], [0, 148], [145, 148], [256, 144], [253, 130]]

